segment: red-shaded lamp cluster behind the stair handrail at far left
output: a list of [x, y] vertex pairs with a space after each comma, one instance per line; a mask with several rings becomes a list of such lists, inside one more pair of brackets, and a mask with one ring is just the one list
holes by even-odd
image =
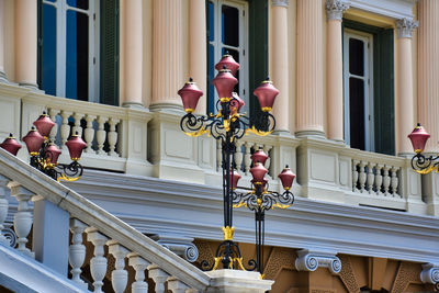
[[[61, 151], [49, 140], [48, 135], [55, 123], [43, 112], [43, 114], [33, 123], [31, 131], [23, 137], [26, 144], [29, 155], [31, 156], [31, 166], [38, 169], [43, 173], [60, 181], [76, 181], [82, 176], [83, 168], [78, 162], [82, 149], [87, 144], [75, 133], [67, 140], [66, 146], [70, 153], [71, 162], [69, 165], [58, 164], [58, 157]], [[12, 155], [16, 156], [21, 145], [10, 134], [0, 147], [4, 148]]]

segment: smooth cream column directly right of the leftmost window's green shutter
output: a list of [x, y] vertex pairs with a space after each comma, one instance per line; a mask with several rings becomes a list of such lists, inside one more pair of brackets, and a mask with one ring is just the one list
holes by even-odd
[[121, 1], [121, 97], [123, 106], [143, 106], [143, 0]]

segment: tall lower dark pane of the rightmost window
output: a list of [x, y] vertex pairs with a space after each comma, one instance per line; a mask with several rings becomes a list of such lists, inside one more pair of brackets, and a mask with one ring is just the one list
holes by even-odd
[[349, 78], [350, 146], [364, 150], [364, 81]]

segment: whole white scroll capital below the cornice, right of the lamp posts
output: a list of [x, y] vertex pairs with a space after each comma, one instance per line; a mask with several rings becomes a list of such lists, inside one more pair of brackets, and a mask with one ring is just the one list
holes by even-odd
[[334, 252], [301, 249], [297, 250], [295, 268], [297, 271], [309, 272], [318, 268], [328, 268], [333, 274], [337, 274], [341, 271], [341, 261]]

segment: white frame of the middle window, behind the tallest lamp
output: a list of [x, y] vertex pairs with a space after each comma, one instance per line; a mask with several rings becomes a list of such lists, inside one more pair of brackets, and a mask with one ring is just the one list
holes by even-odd
[[[210, 0], [214, 4], [214, 41], [209, 42], [214, 47], [214, 64], [221, 60], [222, 48], [229, 48], [239, 52], [239, 98], [245, 101], [243, 112], [249, 113], [250, 93], [249, 93], [249, 75], [248, 75], [248, 2], [241, 0]], [[234, 47], [222, 43], [222, 25], [221, 25], [221, 7], [228, 5], [237, 8], [239, 11], [239, 46]], [[216, 76], [216, 75], [215, 75]], [[218, 94], [215, 92], [215, 104], [218, 101]]]

